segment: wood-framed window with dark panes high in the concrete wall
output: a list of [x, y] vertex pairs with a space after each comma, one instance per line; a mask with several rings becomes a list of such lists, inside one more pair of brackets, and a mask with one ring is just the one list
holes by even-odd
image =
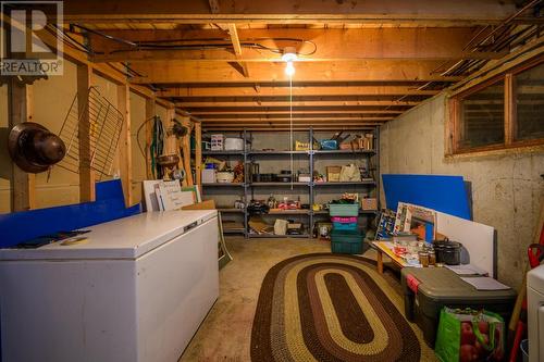
[[544, 58], [449, 99], [449, 153], [544, 145]]

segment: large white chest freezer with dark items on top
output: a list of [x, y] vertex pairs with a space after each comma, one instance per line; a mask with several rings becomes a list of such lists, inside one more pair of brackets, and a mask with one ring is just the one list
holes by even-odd
[[217, 211], [88, 229], [85, 244], [0, 250], [2, 360], [177, 361], [219, 296]]

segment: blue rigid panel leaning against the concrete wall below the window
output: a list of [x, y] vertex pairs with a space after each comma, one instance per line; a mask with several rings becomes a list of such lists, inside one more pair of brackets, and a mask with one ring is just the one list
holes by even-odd
[[390, 210], [396, 211], [398, 202], [407, 202], [471, 220], [462, 176], [383, 174], [382, 180]]

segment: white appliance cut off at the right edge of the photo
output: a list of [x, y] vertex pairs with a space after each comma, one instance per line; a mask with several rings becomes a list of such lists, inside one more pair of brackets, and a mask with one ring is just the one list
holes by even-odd
[[529, 361], [544, 361], [544, 265], [527, 274]]

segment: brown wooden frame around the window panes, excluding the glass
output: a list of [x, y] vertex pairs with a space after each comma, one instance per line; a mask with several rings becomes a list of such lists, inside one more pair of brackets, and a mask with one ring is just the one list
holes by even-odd
[[[450, 96], [448, 103], [449, 117], [449, 150], [446, 154], [467, 154], [487, 151], [497, 151], [506, 149], [521, 149], [527, 147], [544, 145], [544, 137], [527, 140], [515, 140], [517, 126], [517, 108], [516, 108], [516, 78], [515, 76], [531, 70], [544, 63], [544, 55], [535, 57], [527, 62], [512, 66], [493, 77], [482, 80], [481, 83], [471, 86], [458, 93]], [[463, 99], [492, 85], [503, 83], [504, 86], [504, 142], [478, 147], [459, 147], [460, 135], [462, 132], [461, 103]]]

